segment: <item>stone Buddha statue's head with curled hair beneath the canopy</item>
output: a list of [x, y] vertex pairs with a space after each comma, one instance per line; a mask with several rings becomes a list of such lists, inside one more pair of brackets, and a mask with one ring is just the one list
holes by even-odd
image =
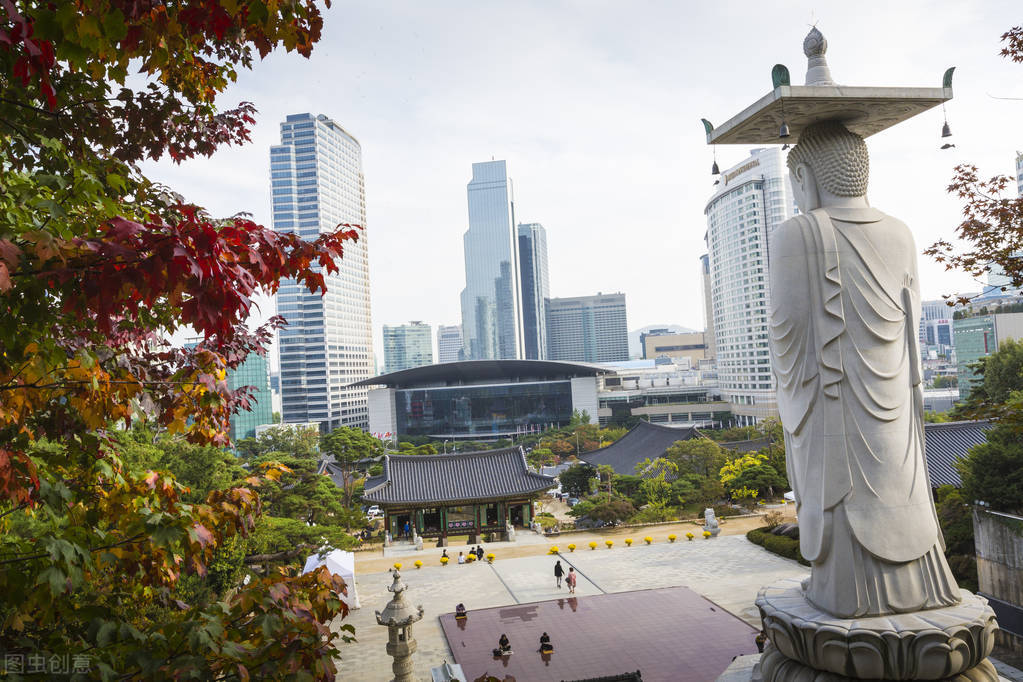
[[870, 156], [863, 138], [838, 121], [807, 126], [789, 152], [789, 173], [801, 213], [829, 206], [865, 204]]

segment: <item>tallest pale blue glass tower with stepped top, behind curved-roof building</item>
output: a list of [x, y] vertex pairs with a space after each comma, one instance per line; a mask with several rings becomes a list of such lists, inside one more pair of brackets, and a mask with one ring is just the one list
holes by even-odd
[[503, 161], [473, 164], [461, 332], [472, 360], [523, 357], [515, 195]]

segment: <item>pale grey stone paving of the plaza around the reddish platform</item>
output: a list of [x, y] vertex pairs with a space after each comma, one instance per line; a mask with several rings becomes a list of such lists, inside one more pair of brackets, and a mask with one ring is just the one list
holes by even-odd
[[[585, 546], [572, 553], [565, 550], [560, 557], [563, 565], [566, 570], [575, 566], [580, 574], [576, 594], [688, 587], [756, 626], [753, 600], [762, 586], [781, 578], [809, 575], [805, 566], [771, 554], [742, 535], [692, 542], [681, 538], [673, 544], [662, 540], [650, 546], [638, 539], [636, 542], [639, 544], [625, 547], [618, 541], [611, 550], [603, 545], [595, 550]], [[430, 679], [432, 667], [453, 660], [440, 616], [453, 611], [459, 601], [475, 610], [568, 596], [566, 587], [559, 590], [554, 584], [553, 565], [559, 557], [502, 560], [500, 553], [495, 553], [493, 564], [440, 566], [431, 557], [419, 570], [412, 565], [413, 557], [403, 557], [402, 579], [408, 585], [405, 596], [426, 609], [422, 621], [413, 628], [419, 645], [414, 656], [419, 679]], [[391, 679], [391, 660], [385, 652], [387, 628], [376, 625], [373, 611], [390, 599], [387, 587], [391, 579], [387, 573], [373, 573], [359, 575], [356, 580], [362, 608], [352, 611], [346, 623], [355, 626], [358, 642], [343, 647], [340, 675], [342, 679], [385, 682]], [[652, 628], [670, 625], [650, 623]], [[550, 635], [557, 639], [555, 633]]]

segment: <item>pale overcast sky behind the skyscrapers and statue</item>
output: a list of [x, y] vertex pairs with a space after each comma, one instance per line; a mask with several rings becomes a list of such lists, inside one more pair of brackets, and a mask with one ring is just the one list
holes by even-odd
[[[1023, 65], [997, 54], [1023, 24], [1018, 0], [336, 0], [312, 58], [274, 53], [222, 96], [259, 109], [251, 144], [148, 171], [215, 215], [269, 226], [279, 122], [311, 111], [341, 124], [362, 145], [377, 354], [383, 324], [460, 321], [465, 184], [491, 157], [507, 160], [517, 219], [547, 230], [552, 295], [623, 291], [630, 329], [702, 329], [714, 178], [700, 119], [720, 125], [766, 94], [777, 62], [801, 85], [813, 21], [841, 84], [937, 87], [957, 66], [954, 149], [938, 149], [940, 108], [868, 140], [872, 203], [921, 251], [950, 236], [952, 167], [1011, 174], [1023, 149], [1023, 101], [994, 98], [1023, 98]], [[718, 147], [717, 160], [748, 152]], [[925, 298], [980, 288], [926, 257], [920, 270]]]

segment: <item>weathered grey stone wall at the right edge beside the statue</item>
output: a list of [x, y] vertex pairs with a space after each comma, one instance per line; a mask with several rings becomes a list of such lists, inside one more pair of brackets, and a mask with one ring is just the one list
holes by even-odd
[[997, 642], [1023, 654], [1023, 517], [975, 508], [980, 593], [991, 599], [1002, 632]]

